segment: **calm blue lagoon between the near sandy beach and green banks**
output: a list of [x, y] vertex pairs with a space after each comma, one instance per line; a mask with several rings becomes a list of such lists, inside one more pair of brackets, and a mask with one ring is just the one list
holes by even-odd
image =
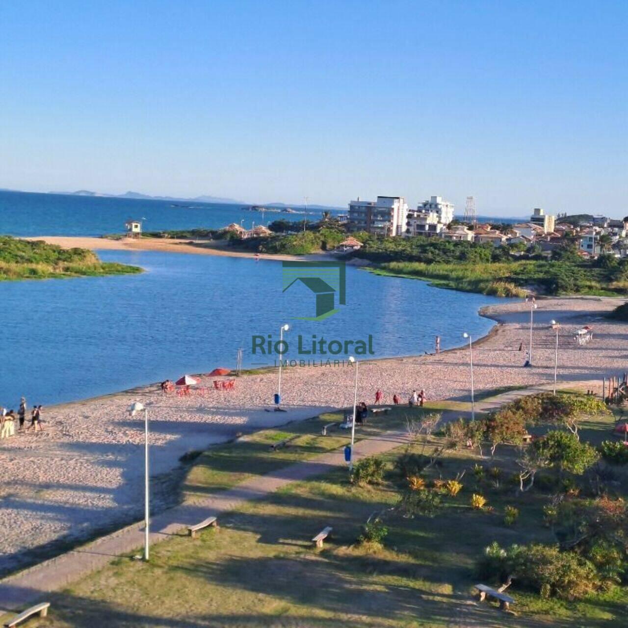
[[[281, 263], [237, 257], [100, 251], [105, 261], [142, 266], [140, 275], [0, 282], [0, 404], [51, 404], [112, 393], [184, 373], [274, 365], [252, 354], [252, 335], [367, 340], [373, 357], [423, 354], [487, 333], [478, 309], [499, 298], [433, 288], [423, 281], [347, 268], [347, 305], [324, 321], [303, 286], [282, 292]], [[327, 356], [313, 355], [312, 359]], [[333, 358], [334, 356], [332, 356]], [[338, 357], [346, 357], [342, 354]], [[270, 403], [271, 400], [269, 400]]]

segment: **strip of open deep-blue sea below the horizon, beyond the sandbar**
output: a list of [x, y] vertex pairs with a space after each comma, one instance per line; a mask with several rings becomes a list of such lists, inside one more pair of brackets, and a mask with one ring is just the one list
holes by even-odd
[[[172, 207], [173, 204], [193, 207]], [[80, 197], [62, 194], [0, 192], [0, 234], [9, 236], [102, 236], [124, 232], [128, 219], [144, 220], [144, 230], [216, 229], [244, 220], [244, 227], [279, 218], [303, 220], [303, 214], [251, 212], [246, 205]], [[321, 212], [308, 214], [317, 220]]]

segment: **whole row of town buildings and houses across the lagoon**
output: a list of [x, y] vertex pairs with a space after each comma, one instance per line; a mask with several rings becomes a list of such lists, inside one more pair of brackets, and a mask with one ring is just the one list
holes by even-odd
[[[538, 245], [541, 252], [551, 254], [565, 244], [566, 237], [575, 242], [583, 256], [614, 252], [628, 256], [626, 240], [628, 223], [603, 216], [590, 217], [580, 224], [556, 222], [556, 216], [534, 208], [528, 222], [494, 229], [490, 224], [468, 225], [453, 220], [454, 206], [440, 196], [408, 208], [404, 197], [379, 196], [376, 201], [354, 200], [349, 203], [347, 227], [350, 231], [365, 231], [389, 237], [430, 236], [451, 241]], [[564, 216], [560, 216], [564, 217]], [[453, 224], [452, 224], [453, 222]], [[602, 237], [600, 241], [600, 236]]]

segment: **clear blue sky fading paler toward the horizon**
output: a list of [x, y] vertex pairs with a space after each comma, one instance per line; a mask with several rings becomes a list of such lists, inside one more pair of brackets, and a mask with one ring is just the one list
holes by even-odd
[[628, 213], [625, 1], [0, 3], [0, 187]]

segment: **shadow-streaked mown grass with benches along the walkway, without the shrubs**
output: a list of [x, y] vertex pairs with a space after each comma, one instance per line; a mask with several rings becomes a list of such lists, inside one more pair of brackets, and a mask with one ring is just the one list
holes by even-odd
[[[421, 411], [413, 413], [418, 416]], [[398, 426], [406, 414], [408, 408], [398, 408], [385, 421], [390, 427]], [[583, 421], [581, 438], [598, 443], [609, 437], [612, 425], [610, 416]], [[313, 448], [325, 450], [323, 441], [331, 447], [332, 438], [338, 438], [335, 445], [342, 444], [344, 437], [313, 436], [314, 428], [319, 426], [320, 423], [305, 421], [296, 424], [295, 431], [292, 427], [266, 430], [256, 440], [257, 445], [263, 445], [258, 453], [236, 453], [236, 445], [215, 448], [221, 451], [219, 456], [198, 458], [198, 465], [190, 474], [191, 483], [196, 490], [203, 489], [205, 478], [205, 490], [215, 490], [247, 474], [272, 472], [279, 458], [268, 462], [268, 443], [286, 433], [303, 441], [293, 451], [273, 454], [287, 457], [282, 458], [283, 464], [311, 455]], [[439, 438], [433, 438], [428, 450], [439, 443]], [[242, 445], [249, 447], [247, 443]], [[413, 447], [418, 451], [422, 445]], [[516, 468], [514, 448], [499, 447], [492, 459], [480, 458], [466, 449], [449, 452], [426, 479], [455, 477], [466, 468], [461, 480], [464, 487], [457, 497], [443, 497], [443, 507], [434, 518], [406, 518], [391, 510], [406, 485], [394, 469], [399, 453], [400, 450], [393, 451], [384, 457], [387, 471], [381, 484], [351, 485], [347, 470], [339, 468], [317, 479], [291, 484], [263, 501], [251, 502], [222, 516], [220, 531], [208, 529], [197, 539], [183, 534], [173, 536], [154, 546], [149, 564], [117, 558], [72, 588], [50, 595], [50, 617], [33, 620], [31, 625], [625, 625], [628, 609], [622, 588], [579, 602], [566, 602], [542, 599], [517, 589], [515, 584], [509, 593], [516, 598], [513, 610], [517, 616], [503, 614], [487, 603], [474, 602], [474, 563], [485, 546], [492, 541], [506, 545], [554, 540], [551, 530], [543, 525], [543, 505], [548, 495], [540, 490], [517, 495], [508, 481]], [[248, 468], [243, 460], [248, 460]], [[470, 468], [475, 464], [485, 467], [487, 473], [474, 474]], [[501, 468], [499, 483], [490, 477], [491, 467]], [[473, 493], [485, 495], [492, 511], [472, 509]], [[519, 520], [511, 527], [503, 522], [507, 505], [521, 511]], [[389, 534], [383, 546], [357, 543], [362, 525], [375, 511], [387, 512], [384, 521]], [[310, 539], [327, 525], [333, 526], [333, 538], [325, 548], [317, 550]]]

